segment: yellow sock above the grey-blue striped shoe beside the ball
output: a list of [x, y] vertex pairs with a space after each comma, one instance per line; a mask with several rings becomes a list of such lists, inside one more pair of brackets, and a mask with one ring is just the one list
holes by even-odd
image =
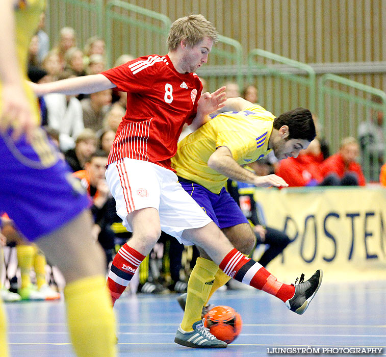
[[192, 331], [192, 325], [201, 319], [204, 302], [211, 291], [218, 265], [211, 260], [197, 258], [188, 281], [184, 318], [181, 327], [185, 331]]

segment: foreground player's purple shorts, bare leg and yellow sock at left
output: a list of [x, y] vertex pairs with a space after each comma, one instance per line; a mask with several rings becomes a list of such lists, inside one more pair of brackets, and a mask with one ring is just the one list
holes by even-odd
[[42, 130], [32, 144], [0, 136], [0, 152], [0, 166], [6, 168], [0, 175], [0, 209], [62, 270], [75, 350], [79, 356], [115, 356], [115, 319], [104, 262], [91, 237], [91, 214], [85, 211], [87, 194]]

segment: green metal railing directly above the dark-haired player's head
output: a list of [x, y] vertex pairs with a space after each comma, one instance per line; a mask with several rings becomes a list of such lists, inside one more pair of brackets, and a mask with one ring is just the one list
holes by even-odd
[[250, 80], [254, 73], [257, 76], [266, 99], [263, 106], [273, 113], [296, 107], [315, 112], [316, 75], [311, 66], [256, 48], [248, 54], [248, 73]]

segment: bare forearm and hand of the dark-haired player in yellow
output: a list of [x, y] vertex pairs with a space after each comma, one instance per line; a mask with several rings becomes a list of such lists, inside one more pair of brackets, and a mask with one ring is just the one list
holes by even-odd
[[258, 176], [241, 167], [226, 146], [220, 146], [209, 157], [208, 166], [231, 180], [245, 182], [257, 187], [287, 187], [288, 184], [275, 174]]

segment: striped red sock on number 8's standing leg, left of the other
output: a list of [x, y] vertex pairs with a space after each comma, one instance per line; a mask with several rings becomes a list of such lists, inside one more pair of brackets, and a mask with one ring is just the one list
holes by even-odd
[[113, 305], [130, 283], [144, 258], [145, 256], [128, 246], [127, 243], [123, 244], [118, 250], [107, 278], [107, 287], [109, 288]]

